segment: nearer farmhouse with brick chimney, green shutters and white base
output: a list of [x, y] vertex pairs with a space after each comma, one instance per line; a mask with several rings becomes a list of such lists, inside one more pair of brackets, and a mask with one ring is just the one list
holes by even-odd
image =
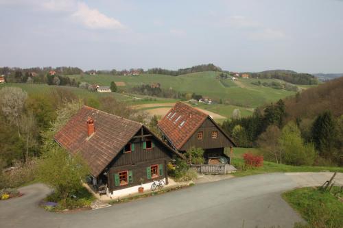
[[174, 151], [143, 124], [92, 107], [82, 107], [55, 136], [71, 153], [80, 154], [91, 168], [93, 185], [109, 197], [138, 192], [141, 183], [167, 184], [167, 162]]

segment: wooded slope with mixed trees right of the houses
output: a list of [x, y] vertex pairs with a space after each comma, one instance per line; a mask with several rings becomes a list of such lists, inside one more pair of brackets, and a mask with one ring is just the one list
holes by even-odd
[[343, 166], [343, 77], [233, 118], [222, 127], [239, 147], [285, 164]]

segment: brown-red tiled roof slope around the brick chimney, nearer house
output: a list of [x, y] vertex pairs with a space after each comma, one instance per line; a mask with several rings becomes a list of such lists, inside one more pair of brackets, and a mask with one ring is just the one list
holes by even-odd
[[[94, 120], [88, 137], [86, 121]], [[56, 134], [55, 140], [70, 153], [80, 153], [97, 177], [143, 125], [91, 107], [82, 107]]]

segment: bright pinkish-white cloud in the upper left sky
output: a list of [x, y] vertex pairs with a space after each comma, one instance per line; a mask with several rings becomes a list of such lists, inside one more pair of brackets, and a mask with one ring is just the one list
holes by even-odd
[[115, 18], [102, 14], [97, 9], [91, 9], [86, 3], [78, 3], [78, 10], [71, 15], [75, 21], [78, 21], [90, 29], [122, 29], [124, 26]]

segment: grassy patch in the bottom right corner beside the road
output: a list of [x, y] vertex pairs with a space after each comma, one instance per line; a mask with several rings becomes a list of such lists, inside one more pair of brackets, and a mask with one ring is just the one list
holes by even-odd
[[339, 189], [335, 186], [331, 192], [324, 192], [317, 188], [298, 188], [285, 192], [283, 199], [307, 220], [309, 226], [303, 227], [342, 228], [343, 203], [333, 196]]

